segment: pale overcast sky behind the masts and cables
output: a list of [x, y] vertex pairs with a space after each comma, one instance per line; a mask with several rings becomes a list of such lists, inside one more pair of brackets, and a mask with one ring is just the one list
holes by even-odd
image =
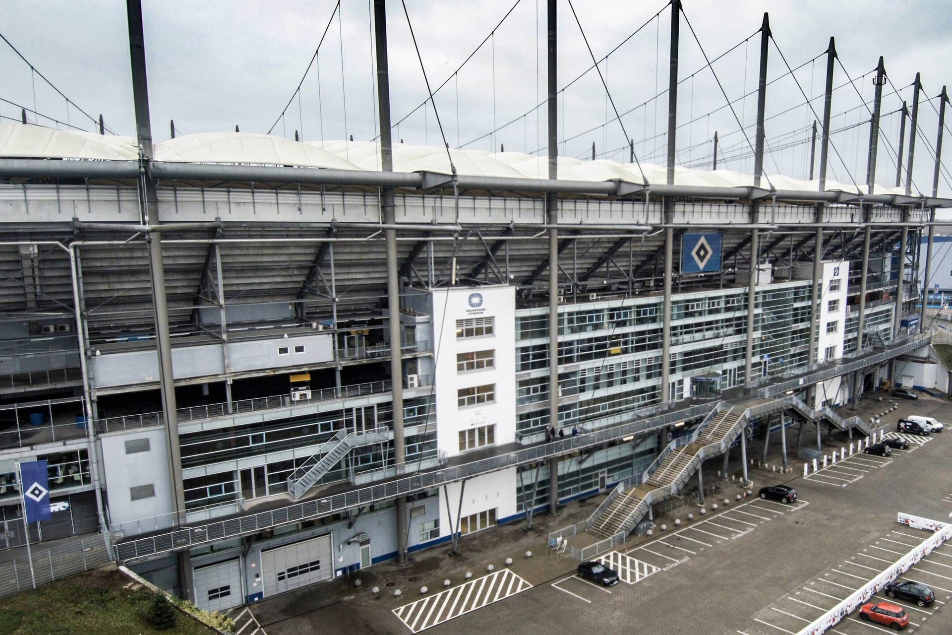
[[[340, 15], [334, 15], [335, 3], [329, 0], [143, 0], [153, 137], [168, 139], [169, 120], [174, 119], [177, 134], [227, 131], [235, 125], [243, 132], [264, 133], [277, 121], [272, 133], [288, 138], [294, 137], [295, 130], [308, 141], [349, 135], [356, 140], [374, 138], [378, 124], [371, 4], [345, 0]], [[573, 0], [573, 4], [598, 60], [645, 27], [600, 67], [615, 106], [623, 113], [624, 131], [613, 120], [602, 82], [591, 70], [560, 93], [560, 154], [590, 158], [594, 143], [597, 158], [626, 162], [626, 139], [634, 139], [640, 161], [663, 164], [667, 95], [652, 98], [667, 87], [670, 10], [662, 0]], [[486, 45], [453, 77], [513, 5], [515, 9]], [[803, 65], [795, 75], [804, 92], [818, 97], [812, 103], [819, 116], [823, 113], [823, 51], [829, 37], [836, 37], [843, 68], [836, 67], [835, 86], [843, 86], [833, 97], [831, 129], [840, 131], [833, 136], [828, 178], [847, 184], [866, 180], [869, 112], [858, 93], [871, 105], [872, 77], [883, 55], [889, 82], [883, 87], [877, 182], [895, 184], [898, 110], [903, 99], [911, 108], [911, 84], [916, 72], [922, 73], [922, 136], [916, 144], [913, 182], [916, 189], [931, 193], [934, 159], [930, 147], [936, 142], [939, 100], [924, 99], [935, 98], [950, 81], [952, 11], [942, 2], [925, 0], [684, 0], [684, 13], [708, 57], [740, 45], [714, 64], [732, 100], [757, 88], [760, 35], [756, 31], [764, 8], [770, 11], [774, 40], [786, 61], [794, 68]], [[450, 80], [436, 95], [450, 146], [484, 150], [505, 146], [506, 150], [545, 153], [545, 107], [536, 109], [545, 96], [545, 2], [407, 0], [407, 10], [430, 86], [436, 89]], [[561, 89], [589, 69], [592, 61], [568, 1], [560, 0], [558, 10]], [[659, 12], [660, 18], [652, 20]], [[300, 98], [279, 120], [328, 20], [327, 36]], [[432, 106], [410, 114], [425, 102], [426, 85], [400, 3], [387, 3], [387, 21], [391, 117], [394, 123], [403, 120], [393, 130], [394, 142], [441, 145]], [[125, 3], [5, 0], [0, 32], [80, 108], [93, 116], [102, 113], [109, 129], [118, 134], [134, 134]], [[737, 101], [734, 112], [724, 108], [726, 100], [711, 71], [704, 69], [703, 54], [684, 19], [680, 50], [678, 163], [710, 168], [711, 140], [717, 130], [722, 139], [719, 167], [752, 171], [751, 152], [735, 113], [744, 127], [751, 127], [747, 135], [753, 143], [756, 96]], [[776, 81], [766, 97], [767, 147], [773, 151], [764, 160], [764, 171], [805, 178], [814, 114], [793, 79], [783, 77], [786, 67], [773, 44], [768, 60], [768, 80]], [[91, 127], [77, 109], [67, 109], [62, 97], [39, 77], [32, 77], [30, 67], [2, 42], [0, 68], [4, 100], [28, 109], [35, 103], [35, 109], [48, 117]], [[856, 81], [855, 89], [846, 72]], [[20, 109], [0, 102], [0, 117], [18, 120]], [[29, 118], [35, 119], [32, 114]], [[694, 123], [688, 123], [691, 120]], [[503, 128], [510, 121], [514, 123]], [[56, 125], [44, 117], [39, 123]], [[952, 151], [948, 143], [952, 140], [946, 144], [946, 156]], [[819, 149], [817, 164], [819, 170]], [[946, 164], [952, 166], [952, 160]], [[952, 196], [950, 182], [952, 176], [943, 172], [940, 195]]]

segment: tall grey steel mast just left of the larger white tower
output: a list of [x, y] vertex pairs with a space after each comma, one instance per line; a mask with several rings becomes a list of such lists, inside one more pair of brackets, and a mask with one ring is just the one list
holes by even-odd
[[[373, 2], [375, 48], [377, 50], [377, 102], [380, 117], [380, 166], [383, 172], [393, 171], [393, 149], [390, 140], [390, 83], [387, 69], [387, 7], [385, 0]], [[384, 225], [395, 225], [396, 206], [392, 187], [380, 190], [380, 207]], [[404, 378], [402, 338], [400, 333], [400, 280], [397, 261], [397, 230], [384, 230], [387, 242], [387, 311], [389, 312], [390, 391], [393, 401], [393, 458], [398, 467], [406, 461], [404, 440]], [[337, 326], [336, 324], [334, 325]], [[397, 563], [407, 562], [407, 498], [396, 500]]]

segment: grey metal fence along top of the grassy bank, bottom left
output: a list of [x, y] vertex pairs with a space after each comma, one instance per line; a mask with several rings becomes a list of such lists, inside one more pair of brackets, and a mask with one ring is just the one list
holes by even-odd
[[103, 566], [111, 560], [109, 549], [99, 535], [48, 548], [38, 547], [32, 547], [32, 575], [26, 549], [22, 556], [0, 563], [0, 597], [33, 588], [34, 580], [37, 586], [45, 585], [74, 573]]

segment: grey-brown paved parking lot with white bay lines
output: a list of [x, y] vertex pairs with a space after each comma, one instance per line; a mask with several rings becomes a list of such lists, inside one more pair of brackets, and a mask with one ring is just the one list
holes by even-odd
[[[939, 400], [914, 406], [917, 413], [952, 415], [952, 407]], [[941, 412], [935, 416], [942, 419]], [[479, 625], [500, 621], [513, 633], [588, 632], [593, 624], [609, 633], [797, 633], [924, 540], [926, 532], [896, 523], [897, 512], [947, 520], [952, 511], [945, 458], [952, 435], [890, 430], [887, 436], [907, 439], [910, 448], [893, 449], [889, 457], [847, 452], [807, 478], [787, 481], [800, 494], [793, 504], [754, 498], [731, 500], [724, 508], [723, 501], [710, 498], [703, 517], [697, 509], [691, 523], [682, 519], [676, 527], [669, 521], [667, 530], [655, 528], [649, 542], [606, 554], [603, 562], [629, 584], [601, 588], [566, 571], [432, 631], [477, 633]], [[751, 478], [756, 490], [762, 482], [776, 482], [777, 475], [753, 470]], [[717, 512], [714, 503], [721, 504]], [[626, 580], [633, 570], [644, 574]], [[930, 585], [937, 594], [924, 608], [895, 601], [910, 616], [907, 631], [952, 632], [952, 611], [943, 609], [952, 598], [952, 545], [903, 578]], [[869, 635], [875, 629], [889, 630], [854, 613], [830, 632]]]

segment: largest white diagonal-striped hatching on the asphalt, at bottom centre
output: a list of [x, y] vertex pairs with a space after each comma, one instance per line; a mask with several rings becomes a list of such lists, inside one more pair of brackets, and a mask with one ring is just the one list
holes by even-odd
[[394, 608], [393, 614], [407, 625], [410, 632], [419, 633], [477, 608], [505, 600], [510, 595], [521, 593], [528, 588], [532, 588], [532, 585], [513, 573], [511, 569], [502, 569], [408, 605]]

